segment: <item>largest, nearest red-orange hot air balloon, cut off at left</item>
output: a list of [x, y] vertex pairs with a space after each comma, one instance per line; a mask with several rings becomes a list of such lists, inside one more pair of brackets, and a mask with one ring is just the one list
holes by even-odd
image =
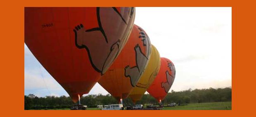
[[76, 102], [119, 55], [134, 18], [133, 7], [26, 7], [25, 43]]

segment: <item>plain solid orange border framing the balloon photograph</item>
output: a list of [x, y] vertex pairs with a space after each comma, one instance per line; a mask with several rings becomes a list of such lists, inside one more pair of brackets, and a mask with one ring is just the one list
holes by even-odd
[[[103, 0], [102, 0], [103, 1]], [[250, 115], [254, 109], [253, 89], [255, 78], [254, 56], [247, 57], [255, 44], [255, 2], [235, 0], [19, 0], [1, 1], [1, 115], [5, 116], [236, 116]], [[232, 7], [232, 110], [123, 110], [123, 111], [69, 111], [24, 110], [24, 7], [92, 7], [92, 6], [140, 6], [140, 7]], [[251, 34], [251, 35], [250, 35]], [[240, 39], [239, 39], [240, 38]], [[254, 41], [252, 41], [254, 39]], [[248, 49], [248, 50], [247, 50]], [[255, 52], [254, 52], [255, 53]], [[252, 53], [252, 54], [254, 54]], [[221, 66], [221, 65], [220, 65]], [[247, 71], [247, 72], [246, 72]], [[248, 82], [250, 81], [250, 82]], [[249, 96], [248, 96], [249, 95]], [[247, 105], [248, 104], [248, 105]], [[255, 115], [255, 114], [254, 114]]]

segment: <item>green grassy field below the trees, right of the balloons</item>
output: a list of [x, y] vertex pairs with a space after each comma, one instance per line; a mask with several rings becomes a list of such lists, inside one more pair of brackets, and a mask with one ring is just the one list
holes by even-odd
[[185, 106], [164, 107], [163, 110], [231, 110], [231, 102], [189, 103]]

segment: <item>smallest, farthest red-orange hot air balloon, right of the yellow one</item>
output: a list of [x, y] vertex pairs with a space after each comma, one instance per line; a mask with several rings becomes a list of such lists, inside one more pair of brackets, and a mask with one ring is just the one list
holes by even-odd
[[159, 103], [161, 103], [161, 100], [164, 100], [166, 94], [173, 85], [175, 72], [173, 62], [167, 58], [161, 57], [160, 70], [152, 85], [147, 89], [147, 92], [159, 101]]

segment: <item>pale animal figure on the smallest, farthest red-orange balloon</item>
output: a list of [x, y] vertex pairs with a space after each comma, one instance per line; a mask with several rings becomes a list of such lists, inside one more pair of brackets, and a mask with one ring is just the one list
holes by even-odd
[[168, 62], [168, 67], [170, 68], [172, 73], [169, 74], [169, 72], [167, 70], [165, 72], [166, 73], [167, 82], [161, 84], [161, 86], [164, 88], [164, 91], [166, 93], [168, 93], [168, 91], [170, 90], [171, 86], [173, 85], [173, 81], [174, 81], [175, 73], [176, 73], [175, 67], [174, 67], [174, 65], [171, 62]]

